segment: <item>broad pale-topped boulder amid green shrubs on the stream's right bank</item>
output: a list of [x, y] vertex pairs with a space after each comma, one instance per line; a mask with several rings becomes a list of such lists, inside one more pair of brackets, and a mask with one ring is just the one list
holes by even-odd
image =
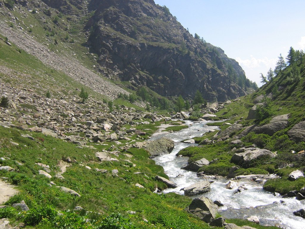
[[267, 158], [274, 158], [276, 154], [272, 153], [266, 149], [245, 149], [244, 152], [235, 153], [232, 158], [231, 162], [235, 164], [242, 164], [243, 166], [247, 166], [252, 160], [267, 157]]

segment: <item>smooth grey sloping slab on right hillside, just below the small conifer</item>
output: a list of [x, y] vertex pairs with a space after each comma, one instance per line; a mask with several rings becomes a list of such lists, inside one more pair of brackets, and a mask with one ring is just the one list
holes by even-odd
[[276, 116], [272, 118], [268, 124], [257, 126], [253, 129], [253, 131], [257, 134], [264, 133], [271, 136], [275, 132], [285, 129], [288, 126], [288, 118], [289, 114]]

